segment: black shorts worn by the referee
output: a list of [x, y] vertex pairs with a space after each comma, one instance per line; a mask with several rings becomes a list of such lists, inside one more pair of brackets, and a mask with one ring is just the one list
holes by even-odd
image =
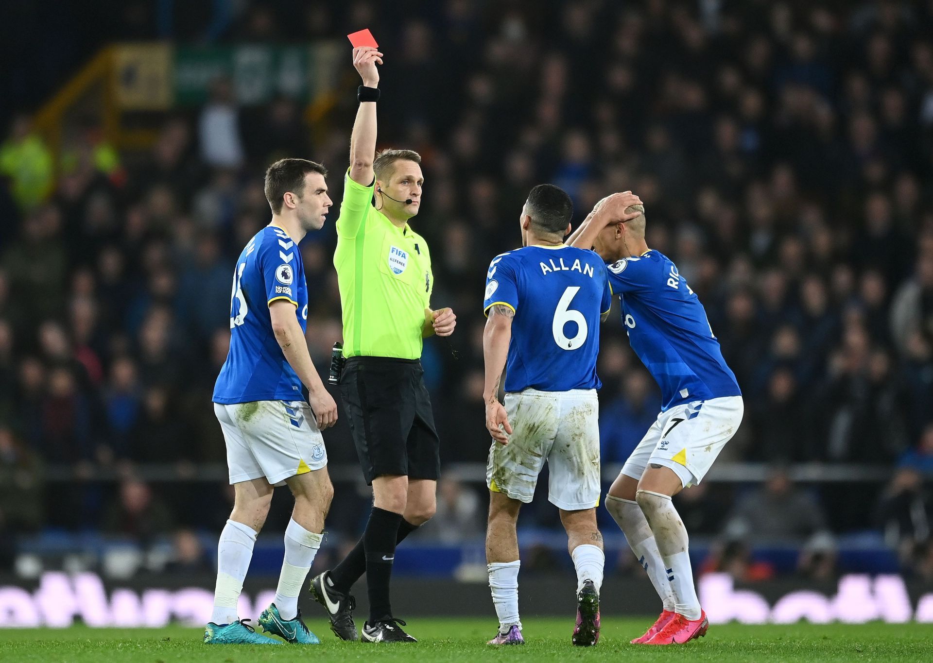
[[438, 480], [440, 439], [420, 361], [350, 357], [341, 398], [368, 484], [382, 475]]

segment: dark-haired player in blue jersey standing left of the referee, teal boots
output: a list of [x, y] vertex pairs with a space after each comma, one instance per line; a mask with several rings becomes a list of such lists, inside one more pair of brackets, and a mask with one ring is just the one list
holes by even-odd
[[275, 600], [259, 624], [287, 642], [318, 642], [301, 620], [298, 597], [321, 546], [333, 496], [321, 431], [337, 421], [337, 405], [317, 375], [304, 338], [308, 287], [299, 242], [327, 219], [326, 175], [323, 166], [305, 159], [273, 163], [265, 186], [272, 223], [236, 261], [230, 353], [213, 398], [235, 497], [220, 534], [214, 614], [204, 642], [281, 644], [244, 624], [248, 620], [237, 615], [237, 601], [273, 487], [282, 483], [294, 494], [295, 509], [285, 529]]

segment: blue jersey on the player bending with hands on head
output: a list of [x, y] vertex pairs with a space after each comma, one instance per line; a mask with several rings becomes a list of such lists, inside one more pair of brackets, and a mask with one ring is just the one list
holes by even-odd
[[632, 349], [661, 387], [661, 411], [691, 401], [738, 396], [719, 341], [671, 259], [657, 251], [608, 266], [609, 285], [622, 299], [622, 322]]

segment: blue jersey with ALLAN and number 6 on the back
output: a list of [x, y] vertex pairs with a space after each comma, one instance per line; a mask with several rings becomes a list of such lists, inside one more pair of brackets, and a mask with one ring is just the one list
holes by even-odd
[[483, 311], [515, 311], [506, 391], [599, 389], [600, 315], [609, 311], [606, 265], [573, 246], [526, 246], [496, 256], [486, 274]]

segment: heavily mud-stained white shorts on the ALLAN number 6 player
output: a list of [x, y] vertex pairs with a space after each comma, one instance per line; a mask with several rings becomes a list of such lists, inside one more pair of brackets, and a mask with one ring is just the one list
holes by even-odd
[[506, 394], [512, 424], [508, 445], [493, 442], [486, 466], [489, 490], [525, 504], [548, 463], [548, 499], [564, 511], [599, 505], [599, 400], [593, 389]]

